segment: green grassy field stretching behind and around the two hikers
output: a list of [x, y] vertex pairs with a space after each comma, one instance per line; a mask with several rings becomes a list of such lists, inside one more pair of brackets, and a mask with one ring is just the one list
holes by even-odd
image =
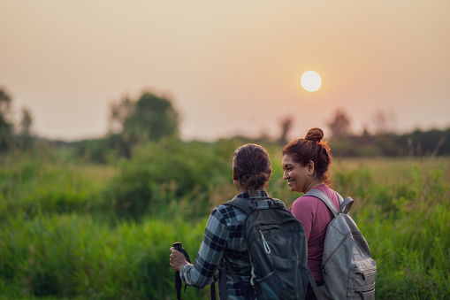
[[[186, 153], [200, 151], [193, 147]], [[194, 158], [217, 161], [223, 148]], [[155, 156], [114, 165], [64, 156], [0, 158], [0, 299], [173, 299], [169, 247], [183, 242], [194, 259], [208, 212], [234, 194], [231, 158], [223, 157], [223, 176], [212, 183], [179, 191], [184, 177], [171, 175], [160, 163], [165, 158]], [[290, 205], [300, 195], [282, 180], [280, 158], [271, 158], [268, 191]], [[193, 178], [187, 183], [210, 180], [199, 175], [208, 165], [189, 164], [180, 166]], [[378, 262], [377, 298], [450, 298], [449, 164], [449, 158], [335, 159], [333, 187], [354, 198], [350, 213]], [[156, 174], [172, 183], [159, 183]], [[133, 191], [141, 181], [148, 181], [143, 186], [152, 202], [143, 215], [124, 216], [117, 191]], [[187, 288], [183, 298], [208, 299], [209, 288]]]

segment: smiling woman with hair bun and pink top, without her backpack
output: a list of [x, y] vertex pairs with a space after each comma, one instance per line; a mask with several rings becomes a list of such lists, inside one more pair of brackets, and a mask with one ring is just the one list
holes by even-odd
[[[324, 132], [320, 128], [311, 128], [301, 139], [289, 142], [282, 151], [283, 179], [289, 188], [297, 193], [306, 193], [317, 188], [330, 197], [332, 203], [339, 207], [339, 198], [328, 185], [330, 181], [329, 168], [332, 164], [332, 154], [327, 142], [322, 141]], [[324, 240], [328, 224], [333, 215], [328, 207], [315, 196], [301, 196], [291, 207], [295, 218], [301, 221], [308, 240], [308, 266], [317, 283], [324, 284], [321, 273]], [[315, 299], [309, 286], [307, 299]]]

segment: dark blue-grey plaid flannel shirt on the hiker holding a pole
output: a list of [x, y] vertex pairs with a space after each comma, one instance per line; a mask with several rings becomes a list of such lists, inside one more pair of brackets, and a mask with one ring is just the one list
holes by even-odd
[[[236, 197], [249, 198], [247, 192]], [[268, 207], [270, 199], [264, 190], [252, 192], [251, 198], [258, 207]], [[247, 244], [245, 242], [245, 219], [247, 215], [239, 208], [232, 205], [218, 205], [210, 214], [206, 224], [200, 250], [195, 258], [194, 265], [184, 265], [180, 271], [180, 277], [188, 285], [203, 288], [212, 281], [221, 262], [228, 261], [236, 273], [239, 281], [245, 283], [241, 286], [227, 273], [226, 288], [227, 299], [245, 300], [250, 287], [250, 262], [248, 258]]]

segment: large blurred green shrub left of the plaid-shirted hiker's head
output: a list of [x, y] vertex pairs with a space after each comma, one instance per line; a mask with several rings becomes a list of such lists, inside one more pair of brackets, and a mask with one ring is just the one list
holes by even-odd
[[236, 142], [182, 142], [176, 138], [149, 142], [132, 160], [123, 160], [108, 197], [118, 215], [167, 212], [171, 204], [189, 199], [196, 215], [209, 207], [210, 190], [232, 181]]

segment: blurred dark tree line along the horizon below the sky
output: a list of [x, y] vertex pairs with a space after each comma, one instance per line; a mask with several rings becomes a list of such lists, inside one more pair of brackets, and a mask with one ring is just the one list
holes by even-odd
[[[50, 141], [32, 135], [33, 118], [27, 109], [21, 110], [18, 124], [11, 118], [12, 98], [0, 88], [0, 152], [11, 150], [32, 150], [42, 142], [54, 147], [65, 146], [79, 158], [104, 163], [111, 155], [132, 158], [133, 149], [148, 142], [157, 142], [164, 137], [179, 137], [179, 112], [167, 96], [158, 96], [146, 91], [137, 99], [125, 97], [111, 104], [109, 132], [96, 139], [77, 142]], [[351, 122], [343, 110], [335, 112], [327, 124], [331, 137], [332, 154], [335, 157], [422, 157], [450, 155], [450, 127], [445, 130], [416, 129], [408, 134], [395, 134], [390, 130], [389, 118], [378, 113], [375, 121], [378, 130], [370, 134], [364, 130], [361, 135], [351, 132]], [[276, 138], [265, 135], [247, 137], [236, 135], [230, 139], [241, 142], [259, 142], [283, 146], [294, 124], [293, 117], [282, 119], [280, 134]]]

